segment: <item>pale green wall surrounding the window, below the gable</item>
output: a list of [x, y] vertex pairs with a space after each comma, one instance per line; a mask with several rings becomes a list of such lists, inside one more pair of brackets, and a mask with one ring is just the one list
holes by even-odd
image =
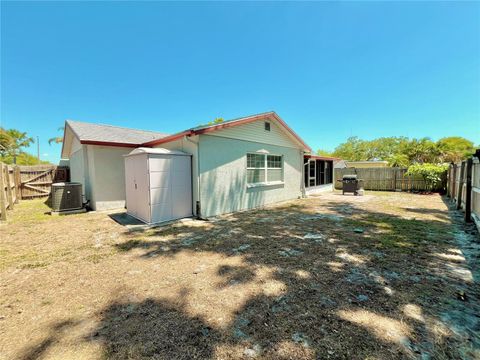
[[[247, 124], [245, 126], [248, 126]], [[238, 127], [240, 128], [240, 127]], [[263, 122], [262, 122], [263, 131]], [[257, 140], [257, 137], [253, 137]], [[274, 139], [270, 139], [274, 141]], [[283, 140], [275, 141], [280, 142]], [[222, 136], [200, 135], [200, 201], [203, 217], [252, 209], [302, 195], [303, 151]], [[246, 154], [283, 155], [284, 183], [247, 187]]]

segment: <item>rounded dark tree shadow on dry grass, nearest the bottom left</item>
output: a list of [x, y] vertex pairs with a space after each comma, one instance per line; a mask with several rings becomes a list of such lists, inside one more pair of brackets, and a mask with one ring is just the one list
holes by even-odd
[[91, 339], [106, 358], [210, 359], [219, 335], [181, 303], [146, 299], [111, 304]]

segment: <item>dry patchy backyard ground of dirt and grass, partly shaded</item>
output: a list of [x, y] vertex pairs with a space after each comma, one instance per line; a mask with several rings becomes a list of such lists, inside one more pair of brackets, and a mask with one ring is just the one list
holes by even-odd
[[0, 226], [1, 359], [480, 358], [478, 234], [438, 195], [140, 231], [46, 211]]

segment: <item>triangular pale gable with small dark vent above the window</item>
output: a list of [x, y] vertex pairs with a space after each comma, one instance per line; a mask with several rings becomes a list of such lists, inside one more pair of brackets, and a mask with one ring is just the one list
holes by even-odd
[[[270, 131], [265, 130], [264, 123], [270, 123]], [[285, 131], [280, 128], [277, 121], [258, 120], [248, 124], [233, 126], [225, 129], [216, 130], [210, 136], [226, 137], [237, 140], [246, 140], [270, 145], [277, 145], [289, 148], [298, 148]]]

